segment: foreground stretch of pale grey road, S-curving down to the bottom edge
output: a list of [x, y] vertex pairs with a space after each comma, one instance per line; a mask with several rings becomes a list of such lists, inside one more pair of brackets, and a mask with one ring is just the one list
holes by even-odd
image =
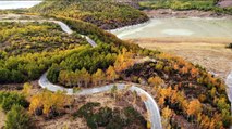
[[[40, 87], [42, 87], [49, 91], [53, 91], [53, 92], [64, 91], [69, 95], [72, 95], [72, 94], [89, 95], [89, 94], [94, 94], [94, 93], [106, 92], [106, 91], [110, 91], [113, 86], [117, 86], [117, 88], [119, 90], [126, 88], [126, 83], [112, 83], [112, 85], [107, 85], [107, 86], [97, 87], [97, 88], [82, 89], [75, 93], [74, 90], [71, 88], [64, 88], [64, 87], [51, 83], [47, 79], [47, 74], [44, 74], [40, 77], [38, 83]], [[147, 93], [145, 90], [136, 87], [135, 85], [130, 87], [129, 90], [136, 91], [138, 95], [144, 94], [147, 96], [147, 100], [145, 100], [144, 103], [145, 103], [147, 111], [149, 111], [149, 116], [150, 116], [149, 120], [151, 122], [151, 129], [162, 129], [159, 107], [158, 107], [157, 103], [155, 102], [155, 100], [152, 99], [152, 96], [149, 93]]]

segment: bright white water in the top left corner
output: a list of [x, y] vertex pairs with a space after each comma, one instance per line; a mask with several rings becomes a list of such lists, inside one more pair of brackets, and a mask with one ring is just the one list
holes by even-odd
[[0, 10], [32, 8], [41, 1], [0, 1]]

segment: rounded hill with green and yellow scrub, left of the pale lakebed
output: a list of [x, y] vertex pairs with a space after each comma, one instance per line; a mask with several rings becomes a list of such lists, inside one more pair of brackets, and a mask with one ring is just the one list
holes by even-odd
[[143, 12], [109, 0], [47, 0], [34, 7], [32, 12], [81, 20], [103, 29], [113, 29], [148, 21]]

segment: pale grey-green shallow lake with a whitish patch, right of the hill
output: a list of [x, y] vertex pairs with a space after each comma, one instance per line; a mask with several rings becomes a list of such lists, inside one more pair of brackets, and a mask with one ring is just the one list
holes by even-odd
[[152, 18], [142, 26], [112, 31], [119, 38], [223, 37], [232, 39], [232, 20], [227, 18]]

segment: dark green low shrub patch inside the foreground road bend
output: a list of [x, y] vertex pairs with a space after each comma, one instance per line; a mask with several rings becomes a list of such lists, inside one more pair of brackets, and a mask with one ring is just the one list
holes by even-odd
[[113, 111], [109, 107], [100, 107], [96, 112], [94, 109], [96, 106], [100, 106], [100, 103], [87, 103], [74, 114], [74, 117], [84, 117], [91, 129], [97, 129], [97, 127], [122, 129], [132, 124], [141, 124], [143, 127], [146, 127], [146, 120], [133, 107], [115, 108]]

